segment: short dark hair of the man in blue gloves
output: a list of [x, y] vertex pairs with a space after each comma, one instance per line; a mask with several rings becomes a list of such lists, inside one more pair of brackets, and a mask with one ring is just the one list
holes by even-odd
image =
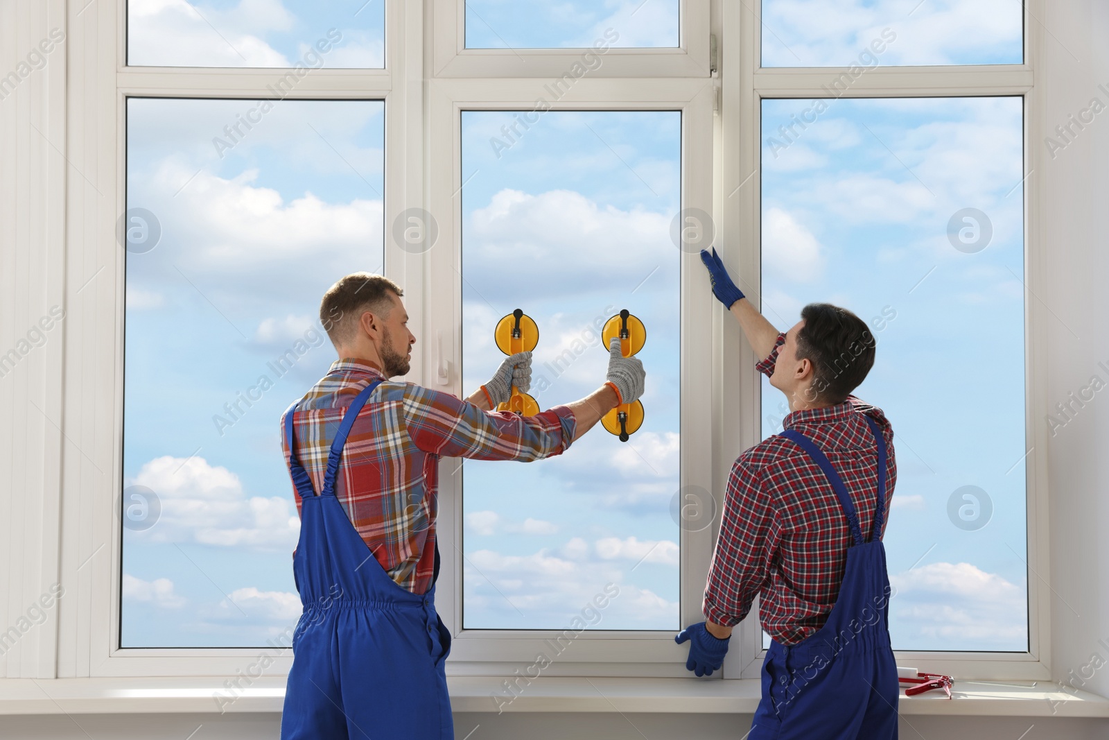
[[808, 401], [842, 403], [874, 366], [874, 335], [862, 318], [831, 303], [802, 308], [797, 358], [813, 364]]

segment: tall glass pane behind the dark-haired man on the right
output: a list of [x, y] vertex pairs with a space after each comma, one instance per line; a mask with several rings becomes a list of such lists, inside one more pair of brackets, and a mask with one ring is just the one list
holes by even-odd
[[[802, 130], [814, 101], [763, 101], [763, 311], [834, 303], [877, 339], [855, 394], [894, 427], [898, 650], [1028, 649], [1021, 105], [836, 100]], [[781, 430], [765, 378], [762, 405]]]

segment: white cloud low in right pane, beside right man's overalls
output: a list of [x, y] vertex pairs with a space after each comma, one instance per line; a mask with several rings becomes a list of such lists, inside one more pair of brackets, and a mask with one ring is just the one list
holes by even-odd
[[[895, 497], [896, 498], [896, 497]], [[1027, 640], [1024, 585], [969, 562], [933, 562], [889, 577], [891, 622], [913, 635], [913, 649], [1022, 650]]]

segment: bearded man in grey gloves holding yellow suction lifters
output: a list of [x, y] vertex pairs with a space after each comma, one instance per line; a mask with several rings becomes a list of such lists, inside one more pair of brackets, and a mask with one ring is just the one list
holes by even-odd
[[600, 388], [531, 417], [492, 410], [513, 385], [528, 389], [530, 352], [506, 358], [465, 401], [393, 381], [416, 343], [403, 295], [369, 273], [324, 294], [319, 317], [338, 359], [282, 417], [304, 605], [282, 740], [452, 738], [450, 632], [435, 610], [439, 458], [552, 457], [643, 393], [643, 365], [621, 356], [619, 338]]

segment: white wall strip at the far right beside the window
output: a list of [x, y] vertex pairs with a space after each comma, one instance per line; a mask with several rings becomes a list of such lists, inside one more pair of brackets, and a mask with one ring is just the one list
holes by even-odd
[[[1098, 89], [1100, 83], [1109, 90], [1109, 3], [1051, 2], [1040, 20], [1050, 31], [1045, 49], [1049, 78], [1042, 88], [1044, 123], [1050, 131], [1093, 97], [1109, 105], [1109, 93]], [[1030, 146], [1047, 153], [1042, 141]], [[1050, 249], [1042, 265], [1049, 287], [1041, 297], [1058, 316], [1051, 320], [1048, 343], [1054, 407], [1088, 385], [1093, 374], [1109, 381], [1109, 371], [1098, 366], [1109, 367], [1109, 110], [1054, 159], [1046, 155], [1040, 162], [1041, 171], [1032, 178], [1040, 178], [1049, 193], [1045, 226]], [[975, 369], [980, 371], [988, 368]], [[1056, 432], [1048, 443], [1052, 672], [1057, 680], [1075, 680], [1109, 696], [1109, 666], [1095, 670], [1097, 659], [1091, 665], [1095, 656], [1109, 661], [1109, 388], [1085, 407], [1076, 406], [1072, 420]], [[1069, 677], [1072, 670], [1078, 677], [1085, 673], [1085, 686], [1083, 678]]]

